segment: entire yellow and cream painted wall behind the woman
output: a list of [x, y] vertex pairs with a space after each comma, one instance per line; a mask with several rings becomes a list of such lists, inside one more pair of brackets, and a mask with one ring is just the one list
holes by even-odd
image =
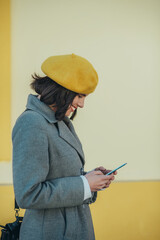
[[[58, 1], [48, 1], [49, 6], [37, 0], [38, 11], [36, 0], [11, 2], [13, 122], [24, 110], [30, 74], [39, 71], [44, 58], [75, 52], [100, 76], [95, 95], [75, 121], [87, 168], [114, 168], [125, 160], [129, 164], [118, 180], [159, 179], [159, 1], [94, 1], [91, 11], [93, 1], [68, 5], [64, 0], [62, 8]], [[0, 36], [0, 160], [10, 160], [9, 0], [0, 0]], [[10, 175], [11, 164], [0, 163], [0, 183], [10, 182]], [[91, 206], [96, 239], [159, 240], [159, 202], [160, 182], [113, 183]], [[12, 185], [0, 185], [0, 224], [14, 220], [13, 208]]]

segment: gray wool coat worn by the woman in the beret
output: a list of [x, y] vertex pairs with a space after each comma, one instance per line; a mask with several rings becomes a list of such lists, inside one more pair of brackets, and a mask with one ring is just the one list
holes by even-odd
[[89, 203], [80, 177], [84, 153], [72, 123], [57, 121], [36, 95], [12, 133], [13, 184], [25, 208], [20, 240], [94, 240]]

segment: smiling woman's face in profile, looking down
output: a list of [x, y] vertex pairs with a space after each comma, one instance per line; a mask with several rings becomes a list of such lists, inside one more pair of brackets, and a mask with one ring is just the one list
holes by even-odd
[[77, 109], [78, 107], [83, 108], [84, 107], [84, 100], [86, 98], [87, 95], [85, 94], [78, 94], [74, 99], [72, 104], [69, 106], [67, 112], [66, 112], [66, 116], [68, 117], [71, 113], [73, 113], [75, 111], [75, 109]]

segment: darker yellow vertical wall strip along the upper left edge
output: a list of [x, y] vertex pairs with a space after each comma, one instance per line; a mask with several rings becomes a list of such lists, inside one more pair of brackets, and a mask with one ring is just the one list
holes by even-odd
[[10, 1], [0, 0], [0, 161], [11, 159]]

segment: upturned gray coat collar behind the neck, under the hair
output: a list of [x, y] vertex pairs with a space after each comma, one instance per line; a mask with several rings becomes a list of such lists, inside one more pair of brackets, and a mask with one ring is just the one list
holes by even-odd
[[48, 107], [45, 103], [41, 102], [38, 98], [38, 95], [30, 94], [28, 96], [28, 101], [26, 108], [29, 110], [33, 110], [41, 114], [44, 118], [47, 119], [50, 123], [56, 123], [57, 119], [55, 118], [55, 113], [50, 107]]

